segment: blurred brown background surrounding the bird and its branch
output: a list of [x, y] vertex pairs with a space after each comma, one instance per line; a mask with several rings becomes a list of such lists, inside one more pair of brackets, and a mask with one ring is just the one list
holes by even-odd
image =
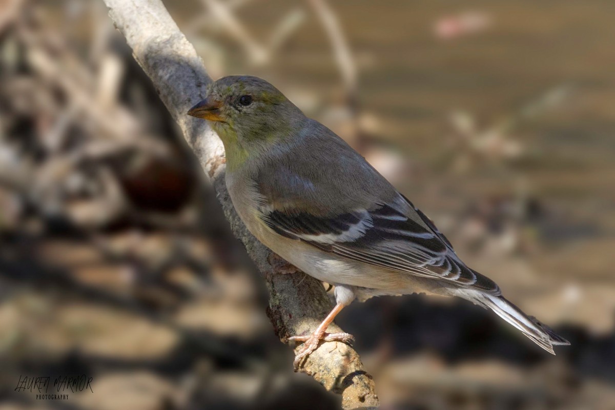
[[[615, 409], [615, 2], [165, 4], [212, 77], [276, 84], [573, 344], [462, 301], [355, 303], [338, 323], [383, 408]], [[339, 407], [292, 373], [102, 2], [0, 2], [0, 81], [0, 408]], [[15, 391], [61, 374], [93, 393]]]

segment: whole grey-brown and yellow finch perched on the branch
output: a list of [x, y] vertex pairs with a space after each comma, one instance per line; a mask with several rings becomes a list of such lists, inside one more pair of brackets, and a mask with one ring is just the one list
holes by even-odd
[[295, 371], [326, 341], [352, 301], [427, 293], [493, 310], [555, 354], [569, 342], [502, 296], [499, 286], [461, 261], [427, 216], [342, 138], [303, 114], [274, 85], [254, 76], [211, 82], [188, 114], [223, 142], [226, 186], [248, 230], [308, 275], [335, 285], [335, 307], [303, 342]]

